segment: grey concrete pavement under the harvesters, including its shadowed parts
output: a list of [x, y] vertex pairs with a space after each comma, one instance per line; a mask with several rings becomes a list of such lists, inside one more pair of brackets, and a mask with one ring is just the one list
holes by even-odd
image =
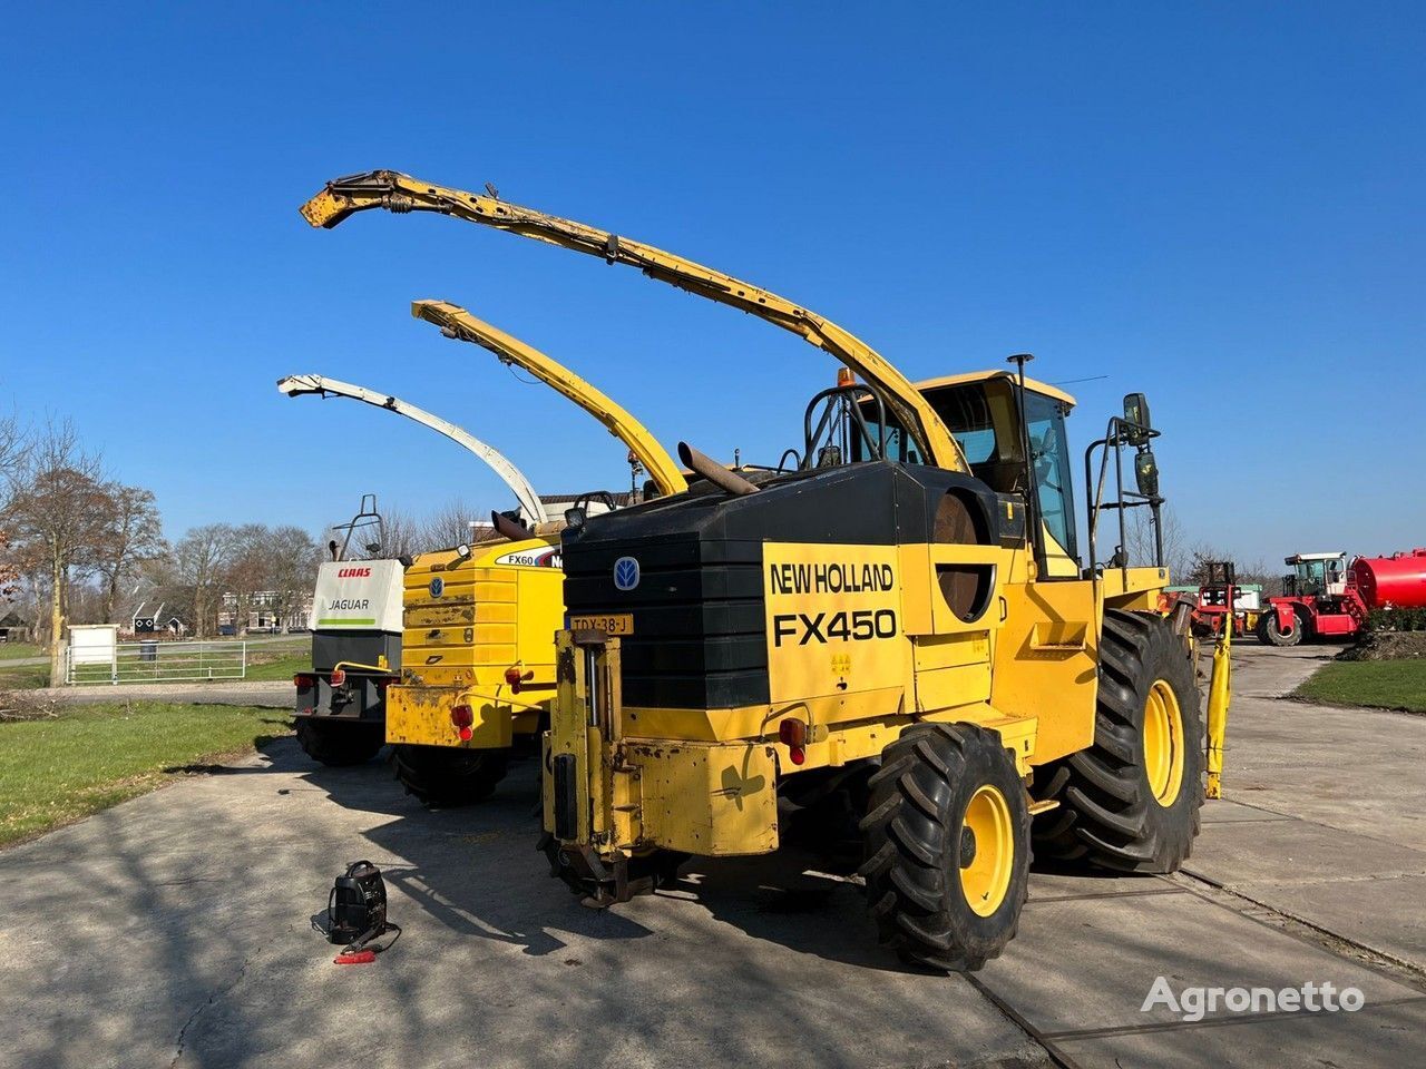
[[[1279, 701], [1241, 649], [1226, 792], [1172, 878], [1035, 872], [974, 976], [904, 971], [806, 858], [696, 862], [599, 912], [533, 851], [533, 770], [429, 812], [291, 740], [0, 852], [0, 1063], [1389, 1066], [1422, 1060], [1426, 720]], [[401, 942], [337, 968], [331, 878], [384, 868]], [[1156, 976], [1356, 986], [1355, 1013], [1139, 1012]]]

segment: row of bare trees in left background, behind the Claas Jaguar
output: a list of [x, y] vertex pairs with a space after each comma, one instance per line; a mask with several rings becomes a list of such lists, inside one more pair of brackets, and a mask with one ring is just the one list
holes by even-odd
[[[379, 542], [366, 533], [349, 556], [456, 546], [472, 537], [473, 515], [459, 500], [425, 517], [389, 513]], [[0, 418], [0, 617], [19, 616], [50, 647], [56, 678], [56, 639], [70, 624], [125, 626], [161, 606], [160, 629], [175, 619], [187, 637], [207, 639], [220, 616], [244, 633], [260, 601], [275, 627], [301, 623], [329, 552], [318, 542], [299, 526], [265, 523], [205, 523], [170, 542], [154, 493], [110, 477], [71, 422]]]

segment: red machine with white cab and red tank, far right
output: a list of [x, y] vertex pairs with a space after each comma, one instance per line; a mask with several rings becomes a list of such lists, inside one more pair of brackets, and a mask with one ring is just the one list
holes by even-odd
[[1346, 553], [1298, 553], [1285, 563], [1293, 572], [1283, 596], [1268, 599], [1258, 620], [1258, 641], [1268, 646], [1350, 637], [1378, 609], [1426, 609], [1426, 549], [1358, 557], [1350, 567]]

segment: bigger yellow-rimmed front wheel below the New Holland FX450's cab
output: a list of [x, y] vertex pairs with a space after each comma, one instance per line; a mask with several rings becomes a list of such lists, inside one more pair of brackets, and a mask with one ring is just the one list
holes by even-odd
[[1041, 857], [1174, 872], [1204, 804], [1204, 725], [1184, 641], [1148, 613], [1104, 611], [1094, 744], [1040, 768], [1060, 807], [1035, 822]]

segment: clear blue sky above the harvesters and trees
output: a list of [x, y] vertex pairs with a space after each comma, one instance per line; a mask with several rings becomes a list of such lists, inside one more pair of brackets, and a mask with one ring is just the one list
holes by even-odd
[[[294, 6], [295, 7], [295, 6]], [[636, 272], [435, 217], [309, 229], [375, 167], [781, 292], [913, 378], [1037, 355], [1078, 446], [1131, 389], [1191, 539], [1426, 542], [1426, 13], [1415, 4], [242, 4], [7, 13], [0, 402], [73, 416], [168, 532], [362, 490], [511, 505], [378, 386], [549, 490], [623, 449], [448, 342], [463, 304], [670, 448], [774, 459], [830, 358]]]

